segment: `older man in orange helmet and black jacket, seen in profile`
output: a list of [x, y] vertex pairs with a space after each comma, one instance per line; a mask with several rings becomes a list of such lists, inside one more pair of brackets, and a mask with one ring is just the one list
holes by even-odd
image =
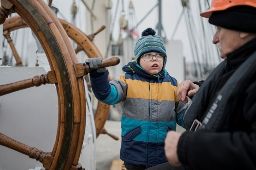
[[188, 131], [168, 132], [170, 164], [150, 170], [256, 170], [256, 0], [212, 0], [200, 14], [217, 27], [224, 59], [205, 81], [183, 81], [180, 101]]

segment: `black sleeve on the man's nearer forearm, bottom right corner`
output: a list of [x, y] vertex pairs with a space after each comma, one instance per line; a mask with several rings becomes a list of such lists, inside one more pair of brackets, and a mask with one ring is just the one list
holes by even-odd
[[240, 103], [243, 113], [239, 113], [249, 130], [184, 132], [177, 151], [182, 164], [196, 170], [256, 169], [256, 98], [250, 92]]

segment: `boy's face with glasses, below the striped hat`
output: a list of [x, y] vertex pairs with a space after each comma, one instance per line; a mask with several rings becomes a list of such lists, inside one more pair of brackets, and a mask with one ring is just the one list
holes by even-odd
[[[148, 52], [146, 54], [156, 55], [159, 53]], [[144, 54], [144, 55], [146, 55], [146, 54]], [[156, 56], [153, 56], [153, 59], [150, 61], [144, 61], [143, 57], [140, 57], [140, 66], [151, 74], [159, 73], [162, 70], [163, 65], [164, 65], [164, 60], [157, 60]]]

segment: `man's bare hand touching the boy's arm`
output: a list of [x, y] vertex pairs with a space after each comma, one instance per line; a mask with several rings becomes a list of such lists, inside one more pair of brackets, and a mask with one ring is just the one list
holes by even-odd
[[177, 96], [181, 102], [188, 103], [187, 96], [188, 97], [194, 96], [198, 91], [198, 89], [199, 89], [199, 85], [192, 83], [192, 81], [190, 80], [185, 80], [181, 82], [177, 91]]

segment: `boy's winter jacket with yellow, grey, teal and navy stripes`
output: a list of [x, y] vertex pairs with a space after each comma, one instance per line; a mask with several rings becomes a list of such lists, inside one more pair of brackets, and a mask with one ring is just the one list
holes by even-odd
[[90, 79], [98, 100], [108, 105], [122, 102], [121, 160], [151, 167], [167, 162], [164, 140], [176, 123], [184, 127], [186, 105], [178, 101], [179, 83], [168, 73], [155, 79], [137, 73], [125, 73], [110, 83], [108, 71], [100, 77], [91, 73]]

